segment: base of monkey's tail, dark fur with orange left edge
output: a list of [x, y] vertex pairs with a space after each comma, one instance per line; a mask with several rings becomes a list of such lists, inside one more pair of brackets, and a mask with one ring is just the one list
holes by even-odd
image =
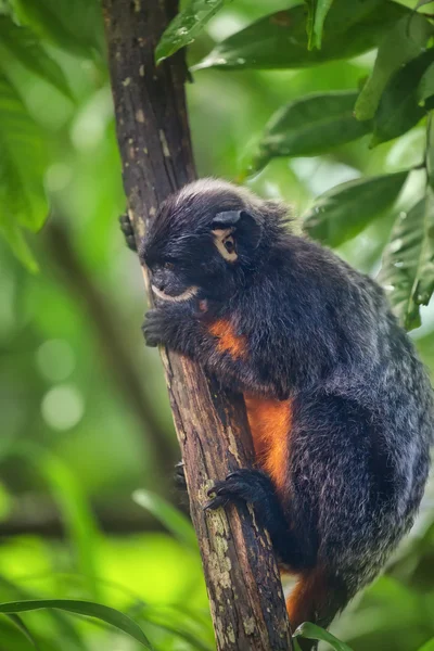
[[[303, 622], [327, 628], [350, 597], [342, 579], [331, 573], [318, 567], [305, 572], [286, 599], [292, 630]], [[316, 640], [302, 638], [298, 638], [298, 643], [303, 651], [314, 651], [318, 646]]]

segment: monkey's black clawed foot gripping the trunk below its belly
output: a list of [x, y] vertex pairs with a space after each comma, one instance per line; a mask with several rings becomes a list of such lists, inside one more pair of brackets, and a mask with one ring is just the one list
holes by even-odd
[[270, 478], [258, 470], [240, 469], [228, 474], [222, 482], [216, 482], [207, 493], [210, 501], [205, 509], [218, 509], [234, 501], [267, 502], [271, 482]]

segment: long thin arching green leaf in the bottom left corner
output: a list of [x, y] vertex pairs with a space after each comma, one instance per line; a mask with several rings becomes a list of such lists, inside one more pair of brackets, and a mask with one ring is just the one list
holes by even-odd
[[24, 613], [28, 611], [41, 610], [46, 608], [55, 608], [68, 613], [94, 617], [106, 624], [111, 624], [118, 630], [128, 634], [135, 640], [140, 642], [145, 649], [152, 649], [151, 642], [142, 629], [127, 615], [101, 603], [93, 601], [80, 601], [74, 599], [35, 599], [28, 601], [11, 601], [0, 603], [0, 613]]

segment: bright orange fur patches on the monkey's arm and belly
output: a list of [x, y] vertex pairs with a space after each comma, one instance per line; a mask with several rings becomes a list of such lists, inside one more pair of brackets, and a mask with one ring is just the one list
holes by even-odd
[[[214, 321], [209, 332], [216, 337], [220, 353], [229, 353], [233, 359], [241, 360], [247, 356], [246, 337], [238, 335], [229, 321]], [[271, 476], [276, 488], [284, 488], [290, 455], [291, 400], [252, 395], [244, 395], [244, 400], [256, 460]]]

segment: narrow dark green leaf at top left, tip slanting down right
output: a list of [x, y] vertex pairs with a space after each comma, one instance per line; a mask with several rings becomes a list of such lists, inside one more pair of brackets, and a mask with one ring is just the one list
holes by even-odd
[[0, 62], [4, 55], [3, 51], [14, 56], [31, 73], [54, 86], [64, 95], [72, 97], [61, 66], [49, 56], [31, 29], [18, 27], [8, 16], [0, 16]]

